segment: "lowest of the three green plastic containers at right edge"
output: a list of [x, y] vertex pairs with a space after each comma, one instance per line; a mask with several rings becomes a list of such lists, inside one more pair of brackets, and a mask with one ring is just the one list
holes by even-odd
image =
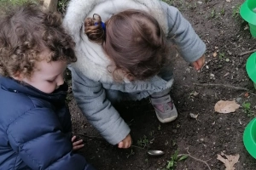
[[256, 159], [256, 118], [247, 124], [243, 133], [243, 144], [249, 154]]

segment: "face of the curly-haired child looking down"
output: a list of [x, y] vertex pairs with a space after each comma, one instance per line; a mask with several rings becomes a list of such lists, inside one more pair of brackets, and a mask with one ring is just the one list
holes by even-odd
[[26, 82], [46, 94], [52, 93], [64, 83], [63, 76], [67, 62], [42, 60], [36, 64], [36, 67], [32, 77], [19, 78], [19, 80], [21, 79], [20, 81]]

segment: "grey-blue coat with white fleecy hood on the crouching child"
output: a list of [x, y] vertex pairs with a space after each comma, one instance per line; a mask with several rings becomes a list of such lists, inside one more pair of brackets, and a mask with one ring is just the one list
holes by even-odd
[[[160, 77], [148, 81], [114, 82], [108, 71], [110, 60], [99, 44], [90, 42], [84, 34], [84, 19], [100, 14], [102, 21], [125, 9], [141, 9], [154, 16], [166, 37], [177, 44], [188, 62], [199, 59], [206, 50], [205, 43], [177, 10], [160, 0], [71, 0], [63, 26], [76, 42], [78, 61], [72, 65], [73, 94], [88, 121], [111, 144], [118, 144], [130, 133], [130, 128], [109, 100], [143, 99], [149, 94], [171, 88], [172, 80]], [[107, 27], [108, 29], [108, 27]]]

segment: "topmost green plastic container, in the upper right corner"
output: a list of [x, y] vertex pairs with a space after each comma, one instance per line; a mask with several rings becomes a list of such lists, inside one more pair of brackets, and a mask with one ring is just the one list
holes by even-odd
[[242, 3], [240, 14], [241, 18], [248, 22], [252, 36], [256, 37], [256, 1], [247, 0]]

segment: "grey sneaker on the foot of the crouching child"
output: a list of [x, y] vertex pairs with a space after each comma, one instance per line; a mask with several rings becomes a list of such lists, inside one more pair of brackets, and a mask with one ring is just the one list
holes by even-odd
[[162, 123], [172, 122], [177, 118], [177, 110], [169, 94], [160, 98], [150, 97], [151, 104], [154, 106], [155, 114]]

